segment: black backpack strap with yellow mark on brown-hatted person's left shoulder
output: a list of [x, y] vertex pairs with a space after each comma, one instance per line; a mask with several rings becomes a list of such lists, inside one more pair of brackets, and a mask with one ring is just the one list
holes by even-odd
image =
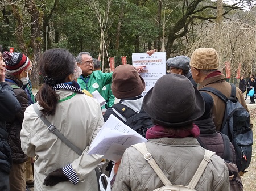
[[112, 110], [125, 122], [128, 118], [134, 116], [134, 114], [137, 114], [137, 112], [135, 112], [133, 109], [121, 103], [114, 104], [112, 106]]

